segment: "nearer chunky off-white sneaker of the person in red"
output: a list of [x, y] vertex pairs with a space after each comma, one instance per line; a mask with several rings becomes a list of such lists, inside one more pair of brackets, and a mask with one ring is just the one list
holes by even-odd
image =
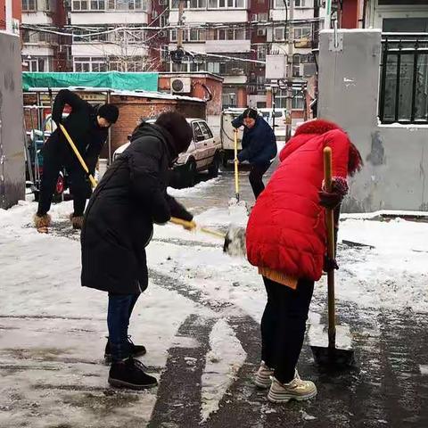
[[286, 403], [290, 399], [302, 401], [304, 399], [312, 399], [316, 395], [317, 387], [315, 383], [302, 381], [296, 370], [296, 374], [291, 383], [280, 383], [275, 377], [272, 378], [268, 400], [273, 403]]

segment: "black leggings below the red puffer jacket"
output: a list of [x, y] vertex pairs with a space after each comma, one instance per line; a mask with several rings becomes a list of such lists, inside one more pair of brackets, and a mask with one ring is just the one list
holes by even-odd
[[268, 303], [261, 318], [261, 359], [275, 368], [281, 383], [294, 378], [306, 331], [314, 281], [300, 279], [297, 289], [263, 277]]

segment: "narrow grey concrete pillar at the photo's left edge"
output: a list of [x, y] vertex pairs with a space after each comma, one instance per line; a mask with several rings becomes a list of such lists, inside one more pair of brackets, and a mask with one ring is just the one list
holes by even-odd
[[0, 208], [25, 198], [21, 41], [0, 32]]

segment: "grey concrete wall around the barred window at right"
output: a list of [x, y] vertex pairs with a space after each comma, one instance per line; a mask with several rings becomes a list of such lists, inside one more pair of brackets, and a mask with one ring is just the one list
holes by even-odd
[[318, 116], [341, 125], [365, 162], [344, 210], [428, 210], [428, 127], [378, 124], [380, 31], [340, 30], [338, 38], [336, 48], [333, 31], [321, 34]]

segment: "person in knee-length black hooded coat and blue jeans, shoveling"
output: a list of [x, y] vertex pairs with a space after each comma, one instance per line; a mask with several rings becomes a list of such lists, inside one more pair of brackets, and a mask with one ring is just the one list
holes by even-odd
[[135, 359], [145, 348], [129, 341], [128, 324], [148, 284], [145, 247], [152, 239], [153, 223], [164, 224], [174, 216], [194, 225], [192, 214], [166, 192], [169, 168], [192, 137], [192, 128], [175, 111], [162, 113], [153, 125], [143, 122], [104, 174], [86, 209], [81, 282], [109, 292], [105, 357], [112, 362], [113, 386], [141, 389], [157, 384]]

